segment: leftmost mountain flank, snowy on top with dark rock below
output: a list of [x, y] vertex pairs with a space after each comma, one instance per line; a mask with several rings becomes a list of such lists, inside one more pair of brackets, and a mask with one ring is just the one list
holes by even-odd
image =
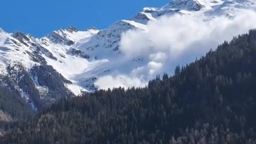
[[[14, 87], [35, 110], [48, 105], [55, 99], [73, 95], [64, 86], [65, 83], [71, 82], [52, 66], [46, 65], [44, 57], [50, 59], [55, 57], [45, 47], [38, 45], [36, 38], [20, 32], [6, 34], [2, 31], [1, 34], [1, 77], [4, 78], [1, 78], [1, 85]], [[40, 70], [43, 70], [44, 75], [39, 75]], [[47, 79], [49, 83], [38, 83], [38, 79]]]

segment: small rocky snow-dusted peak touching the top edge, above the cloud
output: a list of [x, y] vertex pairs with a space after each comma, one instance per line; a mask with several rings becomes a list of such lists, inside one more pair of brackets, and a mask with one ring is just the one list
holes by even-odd
[[199, 11], [208, 6], [204, 1], [200, 0], [175, 0], [165, 5], [163, 9]]

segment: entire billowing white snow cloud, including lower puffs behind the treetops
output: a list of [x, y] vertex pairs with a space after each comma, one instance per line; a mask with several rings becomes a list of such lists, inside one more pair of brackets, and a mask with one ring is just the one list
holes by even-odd
[[95, 85], [100, 89], [141, 87], [157, 74], [172, 74], [177, 65], [186, 65], [220, 43], [255, 28], [254, 11], [243, 10], [235, 15], [165, 15], [150, 20], [145, 29], [128, 30], [122, 34], [120, 50], [127, 59], [143, 58], [143, 66], [103, 76]]

